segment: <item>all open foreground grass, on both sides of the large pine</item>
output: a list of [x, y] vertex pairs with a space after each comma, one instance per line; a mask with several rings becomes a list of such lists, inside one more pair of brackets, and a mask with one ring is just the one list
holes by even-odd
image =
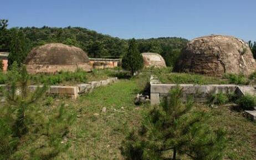
[[[119, 150], [121, 141], [129, 129], [139, 125], [142, 115], [149, 109], [147, 105], [138, 107], [133, 103], [139, 92], [136, 81], [120, 80], [110, 86], [97, 88], [75, 101], [54, 98], [49, 106], [36, 110], [35, 117], [39, 119], [41, 115], [47, 119], [51, 114], [58, 115], [61, 104], [64, 104], [64, 113], [68, 115], [52, 124], [52, 135], [49, 137], [25, 136], [13, 159], [123, 159]], [[104, 107], [106, 112], [102, 111]], [[200, 104], [197, 108], [208, 111], [208, 124], [211, 127], [224, 127], [227, 130], [227, 158], [255, 159], [255, 123], [227, 107], [213, 109]], [[62, 132], [64, 136], [59, 135]], [[58, 152], [54, 152], [56, 148]]]

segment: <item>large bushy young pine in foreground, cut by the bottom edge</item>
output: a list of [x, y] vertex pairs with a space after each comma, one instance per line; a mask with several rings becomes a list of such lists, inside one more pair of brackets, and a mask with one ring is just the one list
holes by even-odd
[[139, 131], [131, 131], [122, 142], [126, 159], [222, 159], [225, 133], [204, 123], [206, 114], [192, 111], [193, 102], [182, 103], [182, 89], [170, 91], [162, 105], [154, 108]]

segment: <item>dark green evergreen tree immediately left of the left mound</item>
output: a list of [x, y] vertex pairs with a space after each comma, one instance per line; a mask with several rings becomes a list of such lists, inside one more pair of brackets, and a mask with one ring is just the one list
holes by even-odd
[[14, 61], [19, 65], [23, 63], [30, 50], [29, 40], [25, 37], [23, 31], [14, 29], [12, 33], [10, 54], [8, 56], [8, 66]]

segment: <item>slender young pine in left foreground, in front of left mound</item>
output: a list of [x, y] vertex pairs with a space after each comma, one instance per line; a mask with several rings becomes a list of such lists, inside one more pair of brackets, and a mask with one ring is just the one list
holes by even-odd
[[46, 92], [47, 86], [38, 87], [33, 93], [29, 92], [29, 74], [22, 66], [18, 68], [17, 62], [12, 65], [11, 71], [7, 73], [6, 98], [10, 106], [16, 110], [16, 120], [13, 125], [13, 136], [22, 137], [28, 131], [27, 110]]

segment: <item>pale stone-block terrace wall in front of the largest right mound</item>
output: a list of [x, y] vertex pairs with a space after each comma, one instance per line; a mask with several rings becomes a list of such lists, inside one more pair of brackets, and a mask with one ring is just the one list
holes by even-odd
[[[175, 88], [177, 84], [161, 84], [156, 77], [150, 79], [150, 102], [151, 105], [160, 104], [163, 97]], [[213, 93], [236, 93], [239, 95], [255, 94], [256, 90], [252, 86], [237, 86], [235, 84], [179, 84], [183, 89], [182, 100], [186, 102], [188, 97], [193, 97], [196, 102], [206, 102], [209, 95]]]

